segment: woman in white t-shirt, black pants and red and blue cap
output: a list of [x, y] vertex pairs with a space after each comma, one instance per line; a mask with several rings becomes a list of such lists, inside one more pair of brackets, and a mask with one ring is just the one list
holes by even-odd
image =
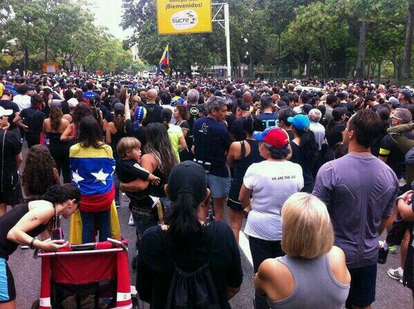
[[243, 208], [252, 205], [245, 234], [249, 235], [257, 272], [265, 259], [285, 255], [281, 249], [281, 209], [285, 200], [302, 189], [303, 176], [300, 165], [286, 160], [290, 153], [288, 133], [271, 127], [253, 136], [261, 141], [259, 151], [265, 161], [247, 169], [239, 200]]

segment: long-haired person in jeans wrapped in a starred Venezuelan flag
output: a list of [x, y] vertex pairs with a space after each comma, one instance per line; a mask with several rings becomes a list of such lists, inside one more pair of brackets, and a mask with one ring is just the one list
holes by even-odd
[[69, 156], [73, 184], [82, 194], [79, 205], [82, 243], [95, 241], [95, 226], [99, 230], [99, 240], [106, 241], [111, 237], [110, 210], [115, 197], [112, 149], [102, 142], [100, 125], [92, 116], [80, 122], [78, 141], [70, 147]]

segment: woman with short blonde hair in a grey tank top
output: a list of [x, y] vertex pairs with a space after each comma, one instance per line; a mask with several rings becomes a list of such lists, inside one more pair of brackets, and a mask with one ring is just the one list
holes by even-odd
[[285, 256], [261, 263], [256, 293], [270, 308], [343, 308], [350, 289], [345, 254], [334, 246], [326, 206], [306, 193], [293, 194], [282, 211]]

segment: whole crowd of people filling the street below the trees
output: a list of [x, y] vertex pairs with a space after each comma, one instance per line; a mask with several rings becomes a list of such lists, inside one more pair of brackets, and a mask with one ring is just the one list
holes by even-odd
[[0, 98], [0, 309], [18, 244], [64, 246], [61, 215], [70, 243], [120, 238], [122, 194], [151, 308], [229, 308], [241, 233], [255, 308], [370, 308], [396, 245], [414, 290], [409, 87], [8, 72]]

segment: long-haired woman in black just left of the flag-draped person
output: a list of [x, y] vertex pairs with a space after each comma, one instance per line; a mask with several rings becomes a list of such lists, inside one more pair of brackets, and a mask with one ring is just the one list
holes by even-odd
[[62, 117], [60, 104], [53, 103], [50, 107], [49, 118], [46, 118], [43, 122], [43, 132], [46, 136], [46, 146], [49, 148], [53, 159], [55, 159], [58, 175], [62, 171], [64, 182], [70, 183], [69, 144], [60, 140], [62, 133], [70, 126], [70, 123]]

